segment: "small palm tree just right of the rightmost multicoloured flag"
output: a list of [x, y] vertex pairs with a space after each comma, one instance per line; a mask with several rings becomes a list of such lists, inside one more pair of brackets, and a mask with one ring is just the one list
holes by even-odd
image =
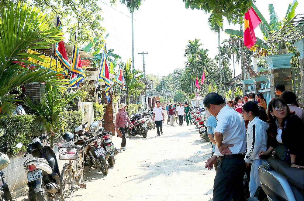
[[125, 75], [125, 84], [127, 90], [127, 104], [129, 104], [130, 95], [140, 95], [143, 90], [145, 90], [145, 84], [141, 82], [143, 75], [140, 75], [141, 70], [131, 69], [132, 60], [125, 64], [124, 75]]

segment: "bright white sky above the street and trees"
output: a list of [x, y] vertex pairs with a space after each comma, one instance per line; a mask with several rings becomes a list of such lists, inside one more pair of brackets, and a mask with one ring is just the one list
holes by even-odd
[[[285, 17], [288, 4], [293, 0], [256, 0], [256, 6], [269, 22], [268, 4], [273, 4], [279, 21]], [[296, 14], [303, 11], [303, 0], [298, 0]], [[122, 56], [122, 61], [132, 58], [131, 14], [126, 5], [117, 0], [116, 6], [109, 6], [109, 0], [100, 2], [105, 19], [107, 49]], [[185, 48], [189, 40], [200, 39], [202, 48], [208, 49], [209, 58], [214, 59], [218, 53], [218, 34], [211, 32], [208, 26], [209, 13], [202, 10], [185, 8], [182, 0], [145, 0], [139, 10], [134, 12], [134, 64], [136, 69], [143, 70], [143, 57], [138, 53], [145, 52], [146, 74], [166, 76], [176, 68], [184, 68]], [[240, 25], [228, 25], [226, 19], [224, 29], [240, 30]], [[262, 39], [259, 27], [255, 34]], [[221, 32], [220, 40], [229, 39], [229, 35]], [[233, 64], [229, 67], [233, 70]], [[235, 75], [241, 73], [240, 65], [235, 66]]]

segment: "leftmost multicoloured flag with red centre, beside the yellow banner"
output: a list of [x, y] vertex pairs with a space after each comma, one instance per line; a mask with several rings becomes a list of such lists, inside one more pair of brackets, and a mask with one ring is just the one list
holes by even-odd
[[[56, 14], [53, 22], [55, 23], [55, 27], [58, 26], [59, 29], [61, 29], [61, 22], [58, 14]], [[70, 68], [69, 60], [67, 59], [67, 51], [65, 50], [65, 45], [63, 40], [55, 43], [54, 53], [55, 53], [55, 57], [60, 61], [60, 63], [62, 63], [62, 67], [66, 71], [65, 74], [69, 75], [71, 72], [71, 68]]]

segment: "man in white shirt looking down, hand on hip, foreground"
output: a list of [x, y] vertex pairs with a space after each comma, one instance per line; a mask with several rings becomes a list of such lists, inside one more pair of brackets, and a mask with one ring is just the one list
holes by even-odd
[[215, 128], [215, 153], [206, 162], [205, 168], [213, 168], [219, 162], [214, 179], [213, 201], [245, 201], [243, 179], [246, 164], [243, 153], [246, 151], [246, 132], [243, 117], [226, 106], [218, 93], [209, 93], [204, 105], [218, 120]]

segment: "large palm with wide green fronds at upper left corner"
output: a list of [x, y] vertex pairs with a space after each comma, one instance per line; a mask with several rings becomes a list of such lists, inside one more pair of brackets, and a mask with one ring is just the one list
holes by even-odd
[[47, 61], [26, 53], [26, 50], [45, 49], [47, 45], [59, 42], [62, 33], [58, 28], [48, 29], [46, 16], [40, 9], [27, 4], [8, 2], [0, 12], [0, 118], [4, 118], [14, 110], [11, 99], [15, 96], [8, 94], [12, 89], [29, 82], [61, 84], [59, 81], [62, 80], [58, 80], [56, 75], [62, 72], [39, 67], [29, 70], [28, 65], [34, 63], [26, 57]]

